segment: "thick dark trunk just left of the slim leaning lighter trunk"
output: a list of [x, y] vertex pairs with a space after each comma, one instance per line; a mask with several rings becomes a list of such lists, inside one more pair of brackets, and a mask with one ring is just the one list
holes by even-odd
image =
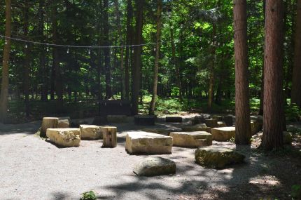
[[[144, 22], [144, 2], [145, 0], [136, 0], [136, 33], [135, 43], [142, 43], [142, 28]], [[132, 67], [132, 114], [138, 114], [139, 93], [141, 86], [141, 53], [142, 47], [134, 47], [134, 66]]]

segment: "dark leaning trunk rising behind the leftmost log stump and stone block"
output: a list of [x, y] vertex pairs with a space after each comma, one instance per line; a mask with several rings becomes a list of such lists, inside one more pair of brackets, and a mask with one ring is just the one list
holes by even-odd
[[[52, 41], [57, 44], [57, 1], [52, 4]], [[63, 87], [62, 87], [62, 74], [59, 67], [59, 52], [57, 47], [53, 47], [53, 69], [55, 71], [55, 92], [57, 94], [58, 108], [63, 106]]]

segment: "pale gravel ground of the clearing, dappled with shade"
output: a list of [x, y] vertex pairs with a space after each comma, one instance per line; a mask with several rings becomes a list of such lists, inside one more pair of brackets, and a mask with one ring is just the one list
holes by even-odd
[[[253, 136], [251, 148], [237, 148], [246, 155], [245, 164], [203, 168], [195, 164], [195, 149], [173, 147], [172, 154], [160, 156], [176, 162], [176, 175], [137, 177], [134, 166], [150, 156], [127, 154], [125, 135], [142, 127], [132, 122], [113, 125], [118, 127], [118, 147], [104, 149], [101, 141], [58, 148], [34, 135], [41, 121], [0, 124], [0, 199], [80, 199], [90, 190], [98, 199], [291, 199], [292, 185], [301, 185], [300, 156], [289, 148], [281, 153], [258, 152], [260, 133]], [[300, 143], [295, 138], [293, 146], [300, 148]], [[214, 145], [235, 147], [232, 142]]]

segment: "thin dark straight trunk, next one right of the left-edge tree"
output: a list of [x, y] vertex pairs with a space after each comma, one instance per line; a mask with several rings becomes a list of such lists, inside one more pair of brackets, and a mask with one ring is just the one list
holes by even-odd
[[[29, 29], [29, 7], [28, 7], [28, 0], [25, 0], [25, 11], [24, 11], [24, 35], [25, 39], [28, 39], [28, 29]], [[25, 60], [24, 60], [24, 79], [23, 79], [23, 86], [24, 86], [24, 94], [25, 94], [25, 113], [26, 116], [29, 116], [29, 46], [25, 44]]]

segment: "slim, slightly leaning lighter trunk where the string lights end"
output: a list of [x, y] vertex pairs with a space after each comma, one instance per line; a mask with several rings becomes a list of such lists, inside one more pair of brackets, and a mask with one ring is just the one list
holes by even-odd
[[157, 89], [158, 89], [158, 72], [159, 72], [159, 60], [160, 60], [160, 48], [161, 48], [161, 13], [162, 13], [162, 0], [157, 1], [157, 34], [156, 34], [156, 48], [155, 48], [155, 67], [153, 73], [153, 96], [151, 99], [151, 106], [148, 114], [155, 114], [155, 102], [157, 100]]

